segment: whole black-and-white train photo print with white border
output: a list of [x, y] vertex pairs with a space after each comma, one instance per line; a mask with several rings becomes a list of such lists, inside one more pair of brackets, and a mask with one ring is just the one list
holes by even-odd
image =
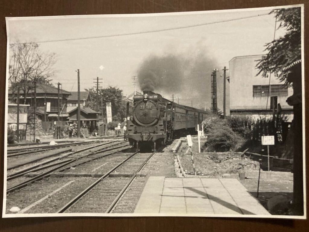
[[3, 217], [306, 218], [303, 5], [6, 30]]

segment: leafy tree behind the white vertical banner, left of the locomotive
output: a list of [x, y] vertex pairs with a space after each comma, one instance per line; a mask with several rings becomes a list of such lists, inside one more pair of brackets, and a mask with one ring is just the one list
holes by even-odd
[[[97, 92], [96, 88], [85, 89], [89, 91], [92, 101], [87, 102], [86, 106], [92, 110], [96, 110]], [[106, 115], [106, 102], [111, 102], [112, 116], [114, 120], [122, 121], [125, 118], [125, 108], [122, 101], [122, 90], [116, 87], [109, 86], [108, 88], [99, 89], [99, 108], [101, 109], [101, 98], [103, 102], [103, 114]], [[101, 112], [101, 110], [100, 110]]]

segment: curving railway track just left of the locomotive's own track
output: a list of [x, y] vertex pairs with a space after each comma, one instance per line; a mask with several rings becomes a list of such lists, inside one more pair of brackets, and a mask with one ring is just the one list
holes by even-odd
[[[112, 143], [112, 142], [110, 142], [110, 143]], [[116, 143], [116, 144], [114, 143], [114, 144], [111, 144], [108, 147], [96, 149], [95, 151], [91, 151], [91, 152], [88, 152], [86, 154], [81, 154], [81, 155], [78, 155], [77, 157], [74, 157], [74, 155], [76, 155], [78, 153], [81, 153], [81, 152], [84, 152], [84, 151], [87, 151], [89, 149], [93, 149], [93, 148], [96, 148], [96, 147], [99, 147], [99, 146], [102, 146], [102, 145], [106, 145], [106, 144], [107, 143], [92, 146], [91, 148], [84, 148], [84, 149], [81, 149], [81, 150], [78, 150], [78, 151], [75, 151], [75, 152], [71, 152], [71, 153], [69, 153], [65, 156], [58, 157], [58, 158], [55, 158], [55, 159], [50, 160], [50, 161], [46, 161], [43, 164], [41, 163], [41, 164], [35, 165], [33, 167], [15, 172], [15, 173], [7, 176], [7, 181], [22, 177], [24, 174], [27, 174], [29, 172], [37, 172], [37, 171], [41, 171], [41, 170], [46, 169], [43, 173], [40, 173], [33, 178], [27, 179], [27, 180], [25, 180], [21, 183], [17, 183], [14, 186], [7, 188], [6, 193], [8, 194], [12, 191], [21, 189], [21, 188], [27, 186], [30, 183], [33, 183], [35, 181], [49, 177], [54, 172], [61, 172], [61, 171], [70, 169], [72, 167], [76, 167], [78, 165], [81, 165], [81, 164], [84, 164], [84, 163], [87, 163], [87, 162], [90, 162], [90, 161], [94, 161], [94, 160], [102, 158], [102, 157], [112, 155], [114, 153], [120, 152], [122, 150], [126, 150], [126, 149], [131, 147], [128, 144], [124, 144], [124, 142], [120, 142], [120, 143]], [[106, 154], [105, 152], [108, 152], [108, 153]], [[104, 154], [100, 155], [100, 153], [104, 153]], [[65, 159], [65, 160], [63, 160], [63, 159]], [[56, 161], [56, 162], [52, 163], [53, 161]]]

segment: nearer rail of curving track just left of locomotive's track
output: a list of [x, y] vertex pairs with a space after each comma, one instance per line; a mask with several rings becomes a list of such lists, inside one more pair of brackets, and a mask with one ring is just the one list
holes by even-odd
[[[124, 148], [124, 149], [121, 149], [121, 150], [118, 150], [118, 151], [115, 151], [115, 152], [112, 152], [112, 153], [104, 154], [104, 155], [99, 156], [99, 157], [94, 157], [94, 158], [92, 158], [92, 159], [89, 159], [89, 160], [86, 160], [86, 161], [83, 161], [83, 162], [79, 162], [79, 163], [74, 164], [74, 165], [71, 165], [71, 166], [67, 166], [68, 164], [71, 164], [71, 163], [73, 163], [73, 162], [75, 162], [75, 161], [77, 161], [77, 160], [79, 160], [79, 159], [81, 159], [81, 158], [87, 157], [87, 156], [92, 155], [92, 154], [94, 154], [94, 153], [89, 153], [89, 154], [86, 154], [86, 155], [83, 155], [83, 156], [80, 156], [80, 157], [71, 159], [70, 161], [68, 161], [67, 163], [65, 163], [65, 164], [63, 164], [63, 165], [60, 165], [60, 166], [58, 166], [58, 167], [56, 167], [56, 168], [53, 168], [53, 169], [51, 169], [51, 170], [48, 170], [48, 171], [46, 171], [46, 172], [44, 172], [44, 173], [42, 173], [42, 174], [37, 175], [36, 177], [33, 177], [33, 178], [31, 178], [31, 179], [29, 179], [29, 180], [27, 180], [27, 181], [24, 181], [24, 182], [22, 182], [22, 183], [19, 183], [19, 184], [13, 186], [13, 187], [8, 188], [8, 189], [6, 190], [6, 194], [7, 194], [7, 193], [10, 193], [10, 192], [12, 192], [12, 191], [14, 191], [14, 190], [21, 189], [21, 188], [27, 186], [29, 183], [32, 183], [32, 182], [34, 182], [34, 181], [38, 181], [38, 180], [41, 180], [41, 179], [43, 179], [43, 178], [49, 177], [50, 174], [52, 174], [52, 173], [55, 172], [55, 171], [61, 172], [61, 171], [64, 171], [64, 170], [66, 170], [66, 169], [69, 169], [70, 167], [74, 167], [74, 166], [77, 166], [77, 165], [80, 165], [80, 164], [83, 164], [83, 163], [87, 163], [87, 162], [90, 162], [90, 161], [93, 161], [93, 160], [96, 160], [96, 159], [99, 159], [99, 158], [102, 158], [102, 157], [105, 157], [105, 156], [112, 155], [112, 154], [114, 154], [114, 153], [117, 153], [117, 152], [120, 152], [120, 151], [123, 151], [123, 150], [126, 150], [126, 149], [128, 149], [128, 148], [130, 148], [130, 147], [132, 147], [132, 146], [123, 145], [123, 146], [118, 146], [118, 147], [115, 147], [115, 148], [109, 148], [109, 149], [106, 149], [106, 150], [104, 150], [104, 151], [99, 151], [99, 152], [97, 152], [97, 153], [103, 153], [103, 152], [105, 152], [105, 151], [109, 151], [109, 150], [113, 150], [113, 149], [117, 149], [117, 148], [122, 148], [122, 147], [127, 147], [127, 148]], [[61, 168], [62, 168], [62, 169], [61, 169]]]

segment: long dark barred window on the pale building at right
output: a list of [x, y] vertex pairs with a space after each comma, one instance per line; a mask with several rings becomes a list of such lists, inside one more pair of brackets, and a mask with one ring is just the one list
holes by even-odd
[[253, 97], [288, 96], [288, 87], [283, 84], [253, 85]]

